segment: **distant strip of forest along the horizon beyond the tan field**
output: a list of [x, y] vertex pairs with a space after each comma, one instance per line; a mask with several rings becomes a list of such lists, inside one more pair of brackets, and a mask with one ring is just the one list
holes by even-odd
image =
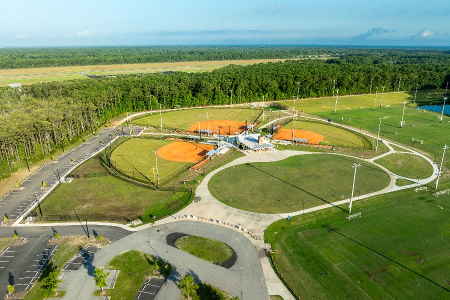
[[[0, 48], [0, 69], [229, 59], [365, 56], [366, 63], [450, 63], [442, 49], [312, 46], [179, 46]], [[363, 62], [356, 60], [357, 62]], [[371, 61], [371, 62], [370, 62]]]

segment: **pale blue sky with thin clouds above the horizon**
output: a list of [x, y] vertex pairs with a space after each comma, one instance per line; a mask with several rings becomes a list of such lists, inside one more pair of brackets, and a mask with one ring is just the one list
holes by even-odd
[[450, 46], [448, 0], [0, 0], [0, 46]]

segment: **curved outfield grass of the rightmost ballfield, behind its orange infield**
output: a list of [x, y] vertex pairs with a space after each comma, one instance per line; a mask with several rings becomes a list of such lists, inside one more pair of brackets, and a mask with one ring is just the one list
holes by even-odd
[[[293, 121], [283, 126], [283, 129], [292, 128], [294, 128]], [[364, 142], [356, 134], [343, 128], [327, 125], [326, 123], [307, 122], [298, 119], [295, 121], [295, 129], [309, 130], [323, 135], [324, 139], [320, 144], [364, 147]]]

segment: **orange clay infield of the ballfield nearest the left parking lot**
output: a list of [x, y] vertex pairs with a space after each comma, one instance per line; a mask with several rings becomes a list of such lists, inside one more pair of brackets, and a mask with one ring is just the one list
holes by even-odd
[[213, 145], [174, 141], [160, 147], [157, 153], [167, 160], [196, 162], [213, 148]]

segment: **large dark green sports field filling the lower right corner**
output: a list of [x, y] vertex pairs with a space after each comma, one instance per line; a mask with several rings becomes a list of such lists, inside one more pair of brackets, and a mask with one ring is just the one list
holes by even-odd
[[272, 223], [275, 267], [300, 299], [449, 299], [449, 198], [432, 193], [356, 201], [349, 221], [334, 207]]

